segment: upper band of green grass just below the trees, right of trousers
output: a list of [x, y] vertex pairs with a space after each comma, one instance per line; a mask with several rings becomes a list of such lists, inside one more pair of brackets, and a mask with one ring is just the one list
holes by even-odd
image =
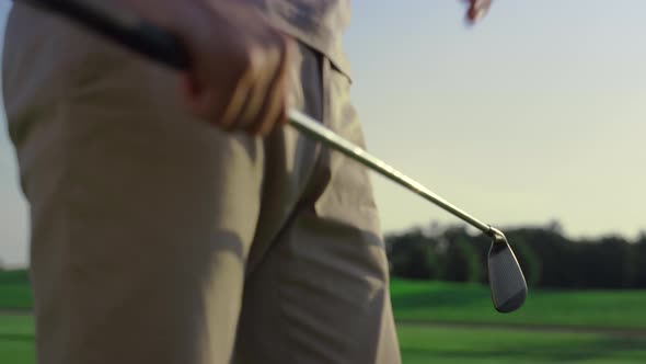
[[500, 315], [488, 287], [438, 282], [394, 281], [397, 320], [553, 325], [646, 330], [645, 291], [532, 291], [518, 311]]

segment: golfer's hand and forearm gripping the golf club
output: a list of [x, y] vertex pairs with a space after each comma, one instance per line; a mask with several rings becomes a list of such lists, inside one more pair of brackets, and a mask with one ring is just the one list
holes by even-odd
[[228, 130], [266, 135], [287, 121], [291, 41], [234, 0], [114, 0], [187, 46], [188, 110]]

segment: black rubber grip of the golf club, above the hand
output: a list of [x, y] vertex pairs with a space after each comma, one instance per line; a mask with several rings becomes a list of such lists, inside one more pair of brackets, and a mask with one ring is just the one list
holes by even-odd
[[175, 35], [103, 1], [14, 0], [65, 15], [130, 50], [175, 70], [188, 69], [188, 50]]

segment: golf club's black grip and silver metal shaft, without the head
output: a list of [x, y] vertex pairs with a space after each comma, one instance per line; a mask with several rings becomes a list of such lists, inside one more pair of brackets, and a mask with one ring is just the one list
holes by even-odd
[[[188, 52], [174, 35], [142, 21], [123, 9], [112, 7], [103, 0], [14, 0], [14, 2], [25, 2], [48, 11], [58, 12], [173, 69], [186, 70], [191, 66]], [[482, 232], [488, 236], [496, 234], [496, 230], [489, 225], [480, 221], [464, 211], [453, 206], [417, 181], [408, 178], [379, 158], [371, 156], [365, 149], [342, 138], [318, 121], [296, 110], [289, 111], [288, 118], [289, 124], [301, 134], [344, 153], [399, 183]]]

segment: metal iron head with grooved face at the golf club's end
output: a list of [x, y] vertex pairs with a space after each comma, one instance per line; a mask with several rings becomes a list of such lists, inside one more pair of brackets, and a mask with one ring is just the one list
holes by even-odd
[[487, 263], [492, 299], [496, 310], [507, 314], [520, 308], [527, 298], [527, 283], [507, 238], [496, 229]]

